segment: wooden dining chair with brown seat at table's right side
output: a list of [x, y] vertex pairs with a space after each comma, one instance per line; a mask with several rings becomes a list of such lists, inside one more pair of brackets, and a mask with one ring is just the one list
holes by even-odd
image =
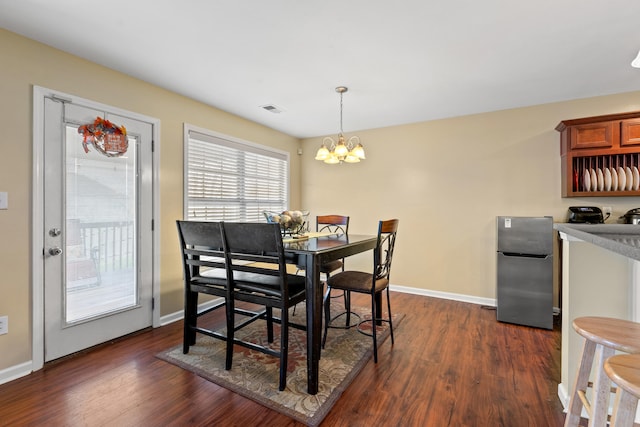
[[[371, 296], [371, 319], [362, 320], [358, 324], [358, 331], [364, 332], [360, 326], [364, 322], [371, 323], [371, 335], [373, 336], [373, 360], [378, 362], [378, 341], [376, 334], [376, 326], [379, 322], [388, 322], [391, 333], [391, 343], [393, 344], [393, 322], [391, 317], [391, 301], [389, 299], [389, 277], [391, 274], [391, 261], [393, 260], [393, 251], [396, 243], [396, 234], [398, 231], [398, 220], [390, 219], [380, 221], [378, 223], [378, 240], [373, 251], [373, 271], [342, 271], [331, 276], [327, 281], [327, 291], [324, 299], [325, 325], [324, 336], [322, 337], [322, 347], [324, 348], [327, 340], [327, 332], [331, 313], [331, 298], [327, 298], [333, 289], [341, 289], [346, 292], [358, 292], [369, 294]], [[386, 291], [387, 296], [387, 313], [388, 318], [383, 319], [382, 313], [378, 312], [376, 299], [382, 299], [382, 293]], [[351, 307], [346, 307], [347, 311]], [[382, 308], [380, 308], [382, 311]]]

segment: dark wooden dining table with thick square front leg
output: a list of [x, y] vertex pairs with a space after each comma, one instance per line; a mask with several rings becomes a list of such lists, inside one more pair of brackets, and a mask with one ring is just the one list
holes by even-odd
[[322, 299], [320, 265], [374, 249], [377, 236], [360, 234], [307, 233], [301, 238], [283, 238], [286, 255], [305, 268], [307, 297], [307, 392], [318, 393], [318, 371], [322, 341]]

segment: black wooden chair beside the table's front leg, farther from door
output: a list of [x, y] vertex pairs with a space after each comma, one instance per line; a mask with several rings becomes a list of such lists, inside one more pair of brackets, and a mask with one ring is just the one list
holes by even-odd
[[[229, 286], [233, 297], [227, 301], [228, 311], [236, 301], [265, 307], [261, 317], [267, 322], [267, 341], [274, 342], [273, 324], [280, 323], [279, 349], [235, 338], [228, 328], [229, 340], [253, 350], [280, 358], [278, 389], [286, 387], [289, 350], [289, 327], [305, 330], [303, 325], [289, 322], [289, 308], [306, 298], [305, 278], [287, 273], [280, 225], [274, 223], [223, 223], [224, 248]], [[280, 318], [273, 309], [280, 309]]]

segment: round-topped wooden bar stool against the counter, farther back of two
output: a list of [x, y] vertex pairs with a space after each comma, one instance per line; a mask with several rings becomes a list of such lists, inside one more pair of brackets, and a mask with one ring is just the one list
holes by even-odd
[[[604, 372], [604, 361], [616, 351], [640, 353], [640, 323], [610, 317], [578, 317], [573, 321], [573, 328], [585, 338], [585, 342], [564, 425], [577, 426], [584, 407], [589, 414], [589, 427], [605, 426], [611, 381]], [[596, 354], [598, 365], [593, 372], [592, 385], [589, 375]], [[589, 386], [593, 390], [592, 402], [586, 394]]]

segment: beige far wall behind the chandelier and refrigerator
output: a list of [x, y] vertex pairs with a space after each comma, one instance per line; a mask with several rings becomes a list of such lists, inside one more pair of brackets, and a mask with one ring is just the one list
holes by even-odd
[[367, 155], [351, 165], [313, 160], [321, 138], [304, 140], [303, 206], [350, 215], [353, 232], [375, 233], [379, 219], [399, 218], [393, 284], [493, 299], [496, 216], [565, 221], [568, 206], [596, 205], [612, 206], [617, 219], [640, 206], [638, 197], [563, 199], [554, 130], [565, 119], [636, 110], [639, 92], [346, 132]]

